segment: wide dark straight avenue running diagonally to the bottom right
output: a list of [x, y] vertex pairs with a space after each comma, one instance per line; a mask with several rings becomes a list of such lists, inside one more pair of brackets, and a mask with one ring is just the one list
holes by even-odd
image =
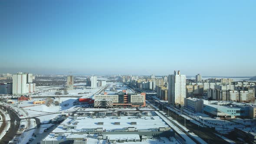
[[[154, 101], [152, 99], [147, 99], [151, 104], [154, 105]], [[155, 103], [158, 107], [158, 102]], [[162, 110], [162, 104], [159, 103], [159, 108]], [[168, 109], [163, 106], [163, 111], [168, 114]], [[181, 117], [180, 115], [176, 115], [175, 112], [169, 111], [169, 115], [175, 120], [177, 120], [180, 124], [184, 125], [184, 118]], [[174, 123], [176, 127], [182, 130], [182, 128]], [[223, 139], [217, 137], [214, 133], [216, 133], [215, 130], [211, 128], [201, 128], [198, 127], [198, 125], [190, 122], [189, 120], [186, 120], [186, 128], [189, 129], [190, 131], [194, 132], [194, 134], [197, 134], [200, 138], [202, 138], [204, 141], [206, 141], [208, 144], [228, 144], [226, 141]], [[186, 131], [182, 130], [185, 134], [187, 134]], [[187, 134], [188, 135], [188, 134]], [[194, 139], [193, 137], [190, 137]]]

